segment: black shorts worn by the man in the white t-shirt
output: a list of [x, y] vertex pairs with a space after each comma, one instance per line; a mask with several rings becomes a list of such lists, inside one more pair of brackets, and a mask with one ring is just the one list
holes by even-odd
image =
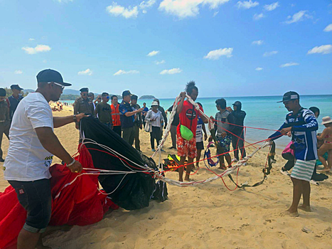
[[50, 180], [8, 182], [15, 189], [19, 203], [28, 213], [23, 228], [31, 233], [45, 232], [52, 212]]

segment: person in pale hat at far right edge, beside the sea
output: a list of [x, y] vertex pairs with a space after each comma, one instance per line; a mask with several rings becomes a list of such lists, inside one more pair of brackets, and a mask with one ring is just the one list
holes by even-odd
[[[328, 172], [332, 166], [332, 120], [331, 117], [323, 117], [322, 123], [326, 128], [323, 130], [321, 135], [317, 136], [318, 140], [323, 140], [323, 145], [318, 149], [319, 161], [324, 166], [322, 171]], [[328, 160], [324, 159], [323, 154], [328, 152]]]

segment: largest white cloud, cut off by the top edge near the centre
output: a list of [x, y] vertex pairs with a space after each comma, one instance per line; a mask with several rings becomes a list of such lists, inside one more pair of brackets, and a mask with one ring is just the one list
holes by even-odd
[[210, 9], [217, 9], [218, 6], [228, 1], [230, 0], [163, 0], [159, 5], [159, 10], [179, 18], [186, 18], [197, 16], [200, 6], [208, 5]]

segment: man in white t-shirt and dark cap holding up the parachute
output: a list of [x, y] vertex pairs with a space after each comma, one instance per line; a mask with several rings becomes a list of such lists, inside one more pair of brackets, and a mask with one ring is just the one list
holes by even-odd
[[4, 178], [14, 187], [18, 201], [28, 216], [17, 239], [17, 248], [35, 248], [50, 221], [50, 164], [53, 155], [62, 159], [72, 172], [80, 173], [82, 165], [60, 144], [53, 128], [80, 122], [83, 113], [53, 117], [48, 102], [58, 101], [65, 86], [55, 70], [37, 75], [38, 88], [18, 104], [9, 132], [9, 149], [4, 164]]

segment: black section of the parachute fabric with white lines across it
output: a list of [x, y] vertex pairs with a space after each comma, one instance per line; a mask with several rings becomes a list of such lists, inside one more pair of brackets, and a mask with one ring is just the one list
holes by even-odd
[[[80, 133], [82, 138], [85, 138], [85, 147], [89, 150], [96, 169], [128, 172], [131, 169], [144, 171], [144, 169], [132, 163], [134, 162], [158, 170], [153, 159], [138, 152], [125, 142], [122, 137], [119, 137], [117, 133], [93, 117], [85, 117], [80, 121]], [[90, 142], [89, 139], [113, 149], [123, 157], [114, 157], [100, 145], [86, 143]], [[119, 157], [126, 160], [128, 164], [119, 159]], [[143, 172], [135, 174], [101, 174], [98, 179], [102, 188], [109, 193], [112, 201], [127, 210], [145, 208], [149, 206], [151, 198], [159, 201], [167, 199], [166, 184], [162, 181], [156, 183], [153, 174]]]

